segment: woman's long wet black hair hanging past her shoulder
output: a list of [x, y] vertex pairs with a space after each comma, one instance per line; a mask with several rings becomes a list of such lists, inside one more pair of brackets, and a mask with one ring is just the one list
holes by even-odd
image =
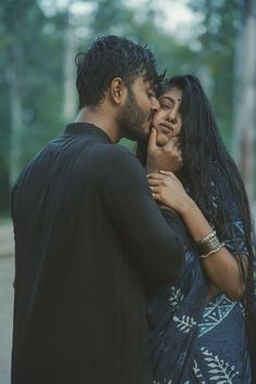
[[[215, 162], [229, 183], [245, 233], [245, 246], [248, 254], [248, 270], [244, 271], [243, 263], [238, 260], [241, 274], [245, 283], [243, 297], [246, 313], [247, 342], [249, 348], [256, 348], [256, 315], [255, 315], [255, 252], [253, 244], [253, 228], [244, 183], [234, 161], [225, 148], [223, 141], [215, 119], [213, 108], [201, 86], [200, 80], [192, 75], [174, 76], [162, 86], [159, 95], [172, 87], [182, 91], [180, 106], [182, 126], [180, 132], [180, 148], [182, 152], [183, 168], [181, 181], [190, 185], [190, 195], [196, 202], [205, 217], [215, 227], [217, 233], [227, 223], [225, 217], [223, 191], [219, 180], [212, 171]], [[144, 165], [146, 159], [146, 145], [139, 143], [137, 155]], [[216, 180], [215, 180], [216, 178]], [[220, 215], [212, 215], [209, 205], [213, 203], [209, 185], [215, 183], [216, 201]], [[210, 203], [212, 202], [212, 203]], [[222, 214], [221, 214], [222, 213]], [[241, 252], [240, 252], [241, 253]]]

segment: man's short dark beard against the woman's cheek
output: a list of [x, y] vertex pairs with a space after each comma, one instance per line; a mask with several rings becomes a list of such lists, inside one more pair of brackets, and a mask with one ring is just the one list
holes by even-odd
[[150, 132], [146, 131], [145, 125], [149, 124], [150, 126], [152, 117], [153, 113], [148, 116], [143, 113], [132, 91], [128, 89], [126, 103], [116, 117], [120, 127], [121, 137], [132, 141], [148, 140]]

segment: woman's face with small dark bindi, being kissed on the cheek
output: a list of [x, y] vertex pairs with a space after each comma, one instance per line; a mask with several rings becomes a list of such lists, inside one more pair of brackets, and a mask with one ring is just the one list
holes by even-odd
[[159, 99], [159, 111], [154, 115], [153, 126], [157, 131], [157, 145], [164, 145], [168, 140], [179, 136], [181, 127], [180, 103], [182, 91], [172, 87]]

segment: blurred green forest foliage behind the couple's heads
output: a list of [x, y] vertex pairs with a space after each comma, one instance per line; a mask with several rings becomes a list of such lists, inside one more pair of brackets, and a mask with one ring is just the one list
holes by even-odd
[[[80, 2], [91, 5], [91, 12], [73, 15], [76, 52], [85, 51], [99, 34], [149, 43], [161, 71], [202, 76], [229, 144], [239, 2], [187, 1], [202, 14], [196, 33], [187, 42], [157, 25], [156, 17], [165, 10], [156, 9], [152, 0], [137, 9], [120, 0]], [[63, 8], [53, 0], [0, 0], [0, 213], [9, 210], [12, 143], [21, 148], [21, 169], [68, 123], [63, 108], [64, 65], [74, 3], [71, 0]], [[20, 130], [15, 129], [16, 121]], [[128, 141], [125, 144], [132, 146]]]

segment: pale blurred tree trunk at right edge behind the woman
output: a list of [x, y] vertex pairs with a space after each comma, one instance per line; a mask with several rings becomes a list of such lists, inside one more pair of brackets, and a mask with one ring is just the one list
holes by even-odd
[[243, 23], [238, 38], [233, 105], [233, 156], [248, 199], [255, 199], [256, 17], [254, 0], [243, 2]]

